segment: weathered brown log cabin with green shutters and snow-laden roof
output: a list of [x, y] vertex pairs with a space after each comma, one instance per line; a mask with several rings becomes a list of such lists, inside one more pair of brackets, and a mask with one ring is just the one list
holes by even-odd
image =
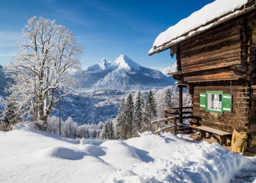
[[[214, 3], [207, 8], [221, 5]], [[227, 3], [234, 5], [232, 0], [225, 3], [227, 7]], [[172, 30], [179, 28], [179, 22], [159, 35], [161, 44], [155, 44], [149, 55], [166, 50], [171, 56], [176, 54], [177, 72], [170, 75], [179, 81], [180, 90], [188, 87], [192, 96], [191, 127], [227, 134], [234, 129], [246, 132], [252, 146], [256, 145], [256, 6], [252, 0], [241, 0], [236, 5], [173, 37]], [[200, 17], [200, 13], [207, 12], [204, 8], [196, 12], [198, 21], [208, 16]], [[190, 16], [187, 21], [192, 19]], [[182, 108], [180, 113], [182, 123]]]

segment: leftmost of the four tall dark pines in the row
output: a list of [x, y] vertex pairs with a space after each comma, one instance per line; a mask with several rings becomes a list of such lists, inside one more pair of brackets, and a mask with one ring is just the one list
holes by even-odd
[[126, 139], [125, 133], [125, 99], [119, 104], [118, 116], [116, 118], [116, 138]]

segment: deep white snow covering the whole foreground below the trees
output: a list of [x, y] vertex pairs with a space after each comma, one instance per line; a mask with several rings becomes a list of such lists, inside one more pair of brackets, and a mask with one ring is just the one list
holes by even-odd
[[0, 132], [0, 182], [228, 182], [250, 159], [166, 133], [126, 141]]

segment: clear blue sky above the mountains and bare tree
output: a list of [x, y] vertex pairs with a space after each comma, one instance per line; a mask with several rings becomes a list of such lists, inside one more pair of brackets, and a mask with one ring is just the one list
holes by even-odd
[[10, 1], [0, 0], [0, 64], [7, 65], [19, 50], [26, 17], [56, 19], [74, 32], [83, 45], [83, 68], [102, 58], [114, 61], [126, 54], [140, 65], [165, 68], [175, 62], [170, 52], [148, 56], [159, 33], [214, 0], [183, 1]]

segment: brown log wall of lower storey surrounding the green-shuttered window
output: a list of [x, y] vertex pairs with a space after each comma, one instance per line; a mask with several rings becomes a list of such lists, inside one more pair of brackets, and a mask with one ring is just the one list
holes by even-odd
[[[240, 96], [240, 89], [243, 85], [232, 85], [232, 113], [218, 114], [213, 112], [207, 112], [206, 109], [200, 108], [200, 93], [206, 93], [207, 91], [224, 92], [224, 94], [230, 93], [230, 86], [228, 83], [223, 86], [224, 83], [218, 83], [217, 86], [195, 86], [193, 95], [193, 115], [200, 116], [202, 121], [201, 125], [212, 127], [214, 129], [220, 129], [221, 131], [233, 132], [234, 129], [237, 131], [247, 131], [248, 118], [246, 118], [247, 111], [245, 108], [239, 106], [241, 99], [237, 98]], [[235, 84], [235, 83], [233, 83]]]

